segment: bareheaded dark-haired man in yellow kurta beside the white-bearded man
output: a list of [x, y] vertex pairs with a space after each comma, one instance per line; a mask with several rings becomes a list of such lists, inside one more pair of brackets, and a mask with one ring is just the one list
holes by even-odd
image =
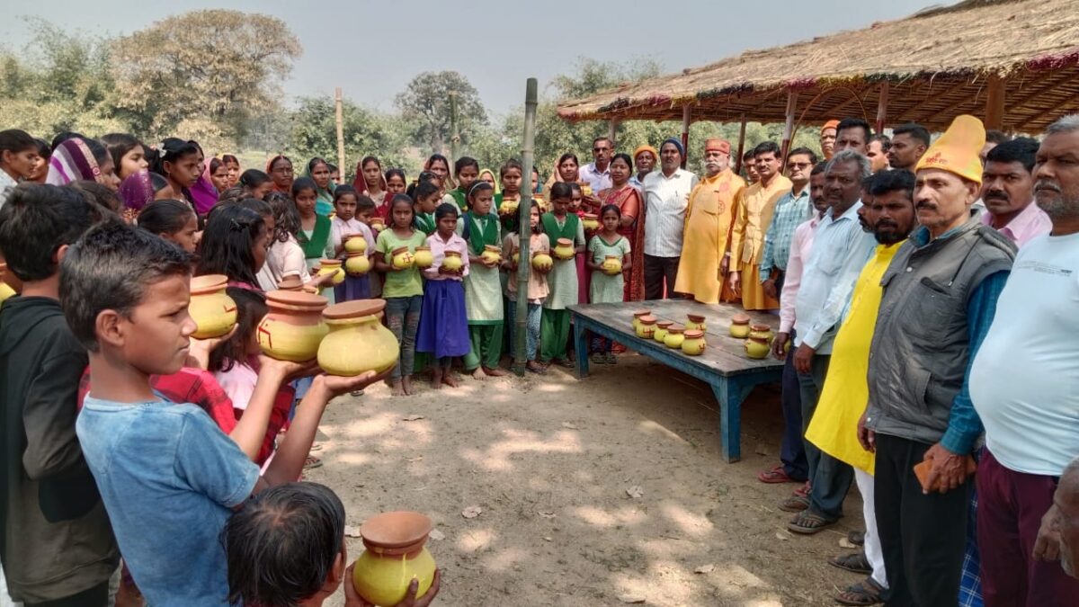
[[[778, 310], [779, 301], [764, 294], [757, 281], [764, 234], [771, 222], [776, 202], [793, 184], [779, 172], [781, 159], [775, 141], [764, 141], [753, 149], [757, 181], [738, 198], [735, 224], [730, 231], [730, 291], [742, 298], [747, 310]], [[741, 280], [741, 276], [746, 280]]]

